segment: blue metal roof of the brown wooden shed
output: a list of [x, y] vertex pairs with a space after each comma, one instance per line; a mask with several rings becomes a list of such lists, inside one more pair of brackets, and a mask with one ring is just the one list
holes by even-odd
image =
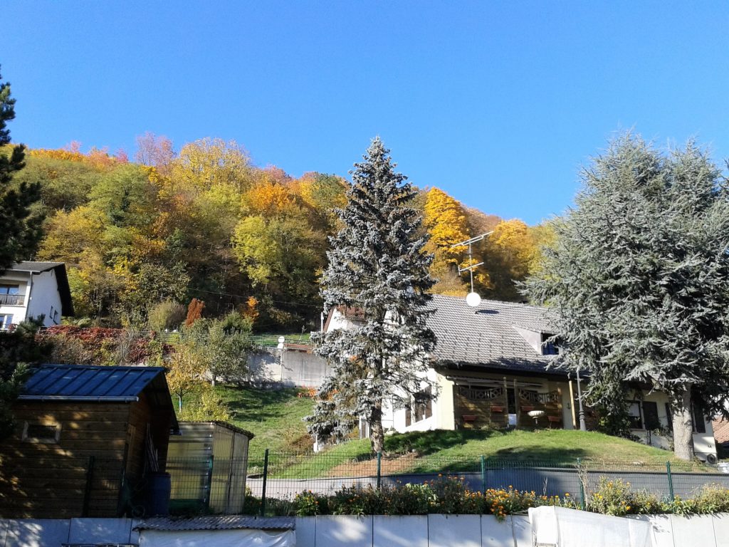
[[162, 367], [42, 365], [26, 382], [20, 399], [137, 400]]

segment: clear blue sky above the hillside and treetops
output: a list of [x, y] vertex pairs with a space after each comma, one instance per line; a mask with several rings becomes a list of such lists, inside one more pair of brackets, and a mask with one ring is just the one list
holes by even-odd
[[31, 147], [219, 136], [346, 175], [380, 135], [416, 185], [529, 223], [571, 203], [615, 131], [729, 156], [725, 1], [2, 4], [10, 129]]

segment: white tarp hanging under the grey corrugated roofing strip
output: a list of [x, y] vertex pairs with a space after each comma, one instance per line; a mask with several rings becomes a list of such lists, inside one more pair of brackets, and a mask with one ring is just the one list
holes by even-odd
[[142, 530], [139, 547], [295, 547], [294, 530]]

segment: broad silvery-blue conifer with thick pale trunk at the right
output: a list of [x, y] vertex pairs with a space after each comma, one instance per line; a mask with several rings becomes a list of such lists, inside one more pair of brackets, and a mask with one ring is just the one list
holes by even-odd
[[526, 292], [555, 311], [561, 360], [589, 371], [593, 402], [618, 414], [626, 381], [666, 392], [690, 459], [692, 401], [726, 414], [729, 395], [725, 179], [693, 143], [663, 155], [628, 135], [582, 182]]

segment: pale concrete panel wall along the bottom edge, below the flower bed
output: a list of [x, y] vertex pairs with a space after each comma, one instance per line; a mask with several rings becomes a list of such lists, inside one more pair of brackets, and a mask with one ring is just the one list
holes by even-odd
[[[729, 514], [643, 515], [654, 547], [729, 546]], [[0, 547], [59, 547], [61, 543], [139, 543], [132, 519], [0, 520]], [[186, 532], [176, 532], [184, 535]], [[585, 531], [586, 536], [596, 531]], [[588, 545], [589, 543], [585, 543]], [[296, 519], [297, 547], [531, 547], [527, 516], [308, 516]], [[221, 545], [220, 547], [226, 547]]]

